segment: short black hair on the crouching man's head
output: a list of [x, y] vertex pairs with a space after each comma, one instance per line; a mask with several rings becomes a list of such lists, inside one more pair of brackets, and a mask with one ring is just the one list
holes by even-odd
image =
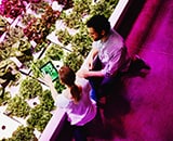
[[88, 27], [92, 27], [95, 29], [96, 33], [101, 33], [102, 30], [105, 30], [106, 34], [110, 30], [110, 23], [108, 18], [106, 18], [104, 15], [94, 15], [86, 22]]

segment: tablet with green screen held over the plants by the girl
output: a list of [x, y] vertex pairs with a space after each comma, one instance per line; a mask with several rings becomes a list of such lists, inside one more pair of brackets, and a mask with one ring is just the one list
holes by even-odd
[[43, 66], [41, 66], [40, 70], [43, 74], [49, 74], [52, 78], [52, 81], [58, 78], [58, 72], [51, 61], [46, 62]]

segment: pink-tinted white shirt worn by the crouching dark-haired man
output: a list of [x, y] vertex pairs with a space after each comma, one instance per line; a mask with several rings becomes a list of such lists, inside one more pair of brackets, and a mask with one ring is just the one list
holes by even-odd
[[93, 48], [98, 49], [98, 57], [103, 64], [103, 74], [111, 76], [116, 70], [121, 69], [129, 61], [129, 54], [123, 38], [115, 30], [110, 31], [108, 39], [93, 42]]

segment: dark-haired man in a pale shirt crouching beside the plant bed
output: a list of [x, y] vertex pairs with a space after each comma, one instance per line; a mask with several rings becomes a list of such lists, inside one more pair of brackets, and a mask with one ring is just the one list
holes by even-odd
[[130, 57], [123, 38], [110, 28], [104, 15], [94, 15], [86, 22], [86, 26], [93, 44], [86, 61], [88, 68], [79, 69], [77, 75], [89, 79], [91, 97], [97, 101], [118, 73], [127, 69]]

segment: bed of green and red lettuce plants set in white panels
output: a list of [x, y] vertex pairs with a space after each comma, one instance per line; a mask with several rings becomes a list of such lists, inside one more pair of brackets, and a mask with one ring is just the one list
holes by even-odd
[[[92, 40], [84, 26], [85, 20], [95, 13], [104, 13], [109, 17], [111, 13], [109, 10], [112, 10], [112, 5], [117, 2], [117, 0], [95, 2], [74, 0], [70, 4], [63, 3], [67, 4], [63, 7], [63, 11], [53, 11], [52, 3], [46, 3], [46, 1], [43, 3], [26, 1], [27, 8], [21, 9], [21, 14], [18, 14], [21, 12], [18, 9], [16, 13], [10, 13], [10, 17], [4, 20], [11, 25], [4, 26], [3, 24], [0, 30], [3, 37], [3, 40], [0, 40], [0, 61], [13, 57], [19, 62], [14, 62], [15, 65], [17, 64], [16, 74], [13, 74], [13, 70], [8, 72], [9, 65], [2, 66], [2, 72], [0, 72], [2, 78], [15, 75], [15, 79], [8, 79], [9, 81], [5, 79], [4, 85], [1, 84], [5, 91], [0, 93], [2, 107], [0, 113], [6, 112], [9, 118], [14, 118], [16, 123], [19, 123], [15, 129], [13, 128], [12, 137], [3, 137], [4, 141], [24, 141], [24, 138], [27, 141], [39, 139], [52, 118], [53, 112], [56, 111], [48, 87], [39, 80], [42, 76], [40, 67], [51, 61], [57, 69], [58, 66], [69, 65], [77, 72], [91, 50]], [[103, 4], [106, 10], [104, 12]], [[12, 5], [9, 8], [11, 10]], [[52, 37], [51, 34], [53, 34]], [[61, 94], [65, 87], [58, 79], [54, 81], [54, 85]], [[14, 87], [16, 89], [13, 91]], [[9, 89], [10, 93], [8, 93]], [[2, 128], [5, 127], [2, 126]]]

